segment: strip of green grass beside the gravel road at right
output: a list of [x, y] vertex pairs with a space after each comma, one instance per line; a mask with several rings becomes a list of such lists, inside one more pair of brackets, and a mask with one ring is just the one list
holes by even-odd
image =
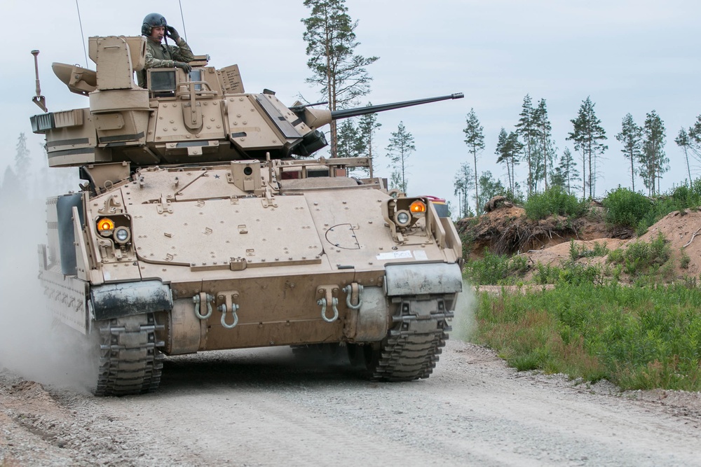
[[622, 389], [701, 390], [701, 291], [560, 282], [479, 295], [475, 341], [519, 370], [563, 372]]

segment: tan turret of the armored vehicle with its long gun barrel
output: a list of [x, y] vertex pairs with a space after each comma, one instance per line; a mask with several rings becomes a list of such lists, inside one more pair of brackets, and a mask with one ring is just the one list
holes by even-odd
[[[238, 66], [208, 67], [196, 56], [192, 71], [148, 69], [147, 88], [134, 81], [144, 68], [143, 36], [91, 37], [96, 71], [53, 64], [89, 107], [33, 116], [32, 130], [46, 134], [51, 167], [127, 163], [132, 166], [212, 163], [311, 155], [327, 145], [320, 128], [332, 120], [400, 109], [452, 94], [358, 109], [329, 111], [287, 107], [265, 90], [246, 93]], [[38, 83], [37, 83], [38, 86]]]

